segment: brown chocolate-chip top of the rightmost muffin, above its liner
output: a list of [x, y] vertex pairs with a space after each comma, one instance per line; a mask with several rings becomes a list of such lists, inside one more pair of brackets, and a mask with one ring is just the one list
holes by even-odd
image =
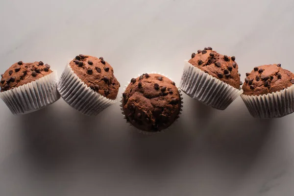
[[254, 96], [279, 92], [294, 84], [294, 74], [281, 68], [281, 64], [262, 65], [246, 73], [243, 94]]

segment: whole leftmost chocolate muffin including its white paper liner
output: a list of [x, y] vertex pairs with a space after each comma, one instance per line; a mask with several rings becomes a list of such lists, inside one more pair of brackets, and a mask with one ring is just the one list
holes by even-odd
[[1, 76], [0, 98], [14, 115], [40, 110], [60, 98], [57, 73], [42, 61], [19, 61]]

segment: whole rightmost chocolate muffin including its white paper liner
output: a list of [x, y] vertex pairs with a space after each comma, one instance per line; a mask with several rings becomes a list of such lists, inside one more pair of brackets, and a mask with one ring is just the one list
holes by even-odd
[[255, 118], [280, 118], [294, 112], [294, 73], [281, 64], [255, 67], [246, 73], [241, 98]]

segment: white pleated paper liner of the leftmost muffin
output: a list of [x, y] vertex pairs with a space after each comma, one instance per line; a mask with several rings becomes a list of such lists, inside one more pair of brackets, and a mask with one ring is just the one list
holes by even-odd
[[57, 80], [57, 73], [53, 71], [40, 79], [1, 92], [0, 98], [14, 115], [34, 112], [60, 98], [57, 91]]

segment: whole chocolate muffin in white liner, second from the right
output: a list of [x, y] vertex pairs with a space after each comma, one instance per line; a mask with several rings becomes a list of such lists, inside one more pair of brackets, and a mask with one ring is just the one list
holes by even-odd
[[208, 47], [193, 53], [185, 62], [180, 89], [191, 98], [224, 110], [242, 94], [235, 57], [221, 55]]

